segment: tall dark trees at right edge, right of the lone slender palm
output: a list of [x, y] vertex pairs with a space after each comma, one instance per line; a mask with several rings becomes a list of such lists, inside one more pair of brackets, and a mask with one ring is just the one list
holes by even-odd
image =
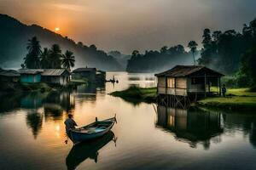
[[235, 77], [238, 86], [256, 87], [256, 19], [245, 24], [241, 33], [205, 29], [202, 37], [199, 65]]

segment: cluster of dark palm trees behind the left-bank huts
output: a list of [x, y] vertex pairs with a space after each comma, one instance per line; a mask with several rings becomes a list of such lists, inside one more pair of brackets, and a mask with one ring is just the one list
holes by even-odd
[[22, 68], [27, 69], [61, 69], [66, 68], [71, 71], [75, 63], [75, 57], [72, 51], [67, 50], [65, 54], [61, 54], [61, 47], [53, 44], [51, 48], [42, 50], [37, 37], [28, 40], [28, 53], [24, 58]]

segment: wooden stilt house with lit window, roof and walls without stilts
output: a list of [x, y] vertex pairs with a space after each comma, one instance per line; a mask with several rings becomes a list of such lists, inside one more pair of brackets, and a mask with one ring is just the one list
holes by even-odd
[[220, 77], [224, 75], [205, 66], [176, 65], [155, 76], [158, 78], [158, 94], [188, 96], [210, 94], [212, 86], [218, 87], [220, 93]]

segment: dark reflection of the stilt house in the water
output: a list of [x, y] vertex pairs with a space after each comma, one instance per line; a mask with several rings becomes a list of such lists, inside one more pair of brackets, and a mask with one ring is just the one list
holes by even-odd
[[[223, 133], [220, 127], [220, 115], [199, 111], [188, 111], [158, 106], [157, 125], [174, 133], [178, 140], [188, 142], [191, 147], [203, 144], [205, 149], [210, 147], [210, 139]], [[218, 142], [220, 140], [215, 140]]]

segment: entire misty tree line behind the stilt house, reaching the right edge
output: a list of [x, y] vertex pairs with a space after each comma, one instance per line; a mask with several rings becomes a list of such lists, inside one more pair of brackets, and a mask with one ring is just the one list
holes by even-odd
[[164, 46], [159, 51], [150, 50], [144, 54], [134, 50], [126, 71], [163, 71], [173, 65], [192, 63], [235, 77], [239, 86], [256, 87], [256, 19], [245, 24], [241, 33], [235, 30], [211, 31], [207, 28], [203, 31], [201, 44], [203, 47], [197, 49], [197, 42], [189, 41], [189, 51], [184, 50], [182, 45], [171, 48]]

